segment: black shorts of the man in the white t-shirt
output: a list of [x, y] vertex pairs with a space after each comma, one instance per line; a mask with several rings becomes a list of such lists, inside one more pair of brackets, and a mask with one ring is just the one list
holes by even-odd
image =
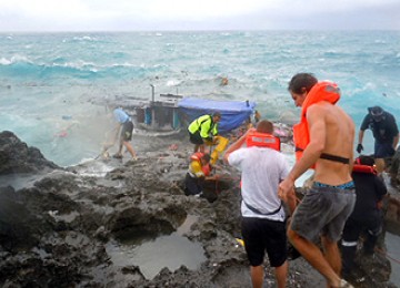
[[267, 251], [271, 267], [280, 267], [288, 258], [284, 222], [242, 217], [242, 237], [251, 266], [260, 266]]

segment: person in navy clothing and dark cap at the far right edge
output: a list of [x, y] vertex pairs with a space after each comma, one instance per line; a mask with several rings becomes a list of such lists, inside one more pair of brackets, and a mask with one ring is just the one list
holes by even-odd
[[392, 157], [399, 143], [399, 128], [392, 114], [380, 106], [368, 109], [359, 131], [357, 152], [363, 151], [362, 140], [364, 131], [370, 128], [374, 137], [374, 158], [378, 174], [384, 171], [384, 158]]

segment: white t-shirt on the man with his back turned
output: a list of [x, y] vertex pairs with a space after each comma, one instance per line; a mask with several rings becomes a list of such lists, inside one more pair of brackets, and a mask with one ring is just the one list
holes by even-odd
[[241, 171], [242, 216], [283, 222], [283, 206], [273, 215], [261, 215], [252, 212], [244, 202], [262, 213], [279, 208], [278, 185], [289, 174], [284, 155], [272, 148], [242, 147], [233, 151], [228, 162]]

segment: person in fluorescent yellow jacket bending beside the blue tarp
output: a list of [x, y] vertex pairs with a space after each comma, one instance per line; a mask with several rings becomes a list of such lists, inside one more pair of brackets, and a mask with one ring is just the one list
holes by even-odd
[[214, 112], [212, 115], [206, 114], [196, 119], [188, 126], [189, 140], [194, 144], [194, 153], [198, 151], [204, 153], [204, 145], [216, 145], [214, 151], [211, 153], [211, 165], [216, 164], [229, 142], [228, 138], [218, 135], [220, 120], [221, 113]]

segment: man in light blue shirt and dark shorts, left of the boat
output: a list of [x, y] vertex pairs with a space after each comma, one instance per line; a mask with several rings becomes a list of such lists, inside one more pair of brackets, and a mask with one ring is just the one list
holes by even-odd
[[[133, 123], [131, 117], [121, 107], [117, 107], [113, 111], [114, 119], [117, 121], [117, 134], [116, 140], [119, 137], [119, 148], [114, 158], [122, 158], [122, 147], [124, 146], [131, 154], [132, 158], [136, 160], [137, 155], [130, 143], [132, 140]], [[120, 133], [121, 131], [121, 133]]]

